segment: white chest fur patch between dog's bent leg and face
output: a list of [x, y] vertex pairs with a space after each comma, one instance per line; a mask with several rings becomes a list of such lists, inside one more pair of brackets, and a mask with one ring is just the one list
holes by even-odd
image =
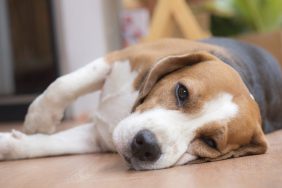
[[138, 91], [133, 88], [136, 76], [137, 72], [132, 71], [128, 60], [117, 61], [113, 63], [104, 84], [94, 119], [105, 145], [110, 150], [115, 150], [112, 142], [114, 128], [130, 114], [138, 96]]

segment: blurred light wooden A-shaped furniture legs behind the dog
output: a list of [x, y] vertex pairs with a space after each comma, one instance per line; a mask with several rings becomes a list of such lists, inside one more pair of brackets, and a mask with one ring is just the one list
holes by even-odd
[[144, 38], [144, 41], [171, 37], [175, 27], [179, 27], [183, 36], [188, 39], [209, 36], [200, 28], [185, 0], [158, 0], [149, 35]]

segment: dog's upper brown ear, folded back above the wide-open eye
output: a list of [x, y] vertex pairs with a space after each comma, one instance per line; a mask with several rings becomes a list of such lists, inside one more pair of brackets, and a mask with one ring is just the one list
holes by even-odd
[[133, 107], [133, 110], [142, 102], [142, 100], [148, 95], [156, 82], [158, 82], [158, 80], [160, 80], [163, 76], [185, 66], [191, 66], [200, 62], [210, 61], [214, 59], [216, 59], [215, 56], [202, 51], [184, 55], [172, 55], [160, 59], [151, 67], [144, 82], [142, 83], [139, 97]]

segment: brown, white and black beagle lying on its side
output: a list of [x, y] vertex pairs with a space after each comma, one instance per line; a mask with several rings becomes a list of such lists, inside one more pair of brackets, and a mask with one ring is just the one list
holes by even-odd
[[[93, 122], [54, 133], [66, 107], [98, 90]], [[0, 134], [0, 159], [112, 151], [148, 170], [262, 154], [281, 112], [282, 73], [261, 48], [164, 39], [58, 78], [30, 105], [23, 132]]]

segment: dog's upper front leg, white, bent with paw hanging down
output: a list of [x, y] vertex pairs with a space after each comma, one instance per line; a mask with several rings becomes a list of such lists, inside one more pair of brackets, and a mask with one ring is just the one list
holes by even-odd
[[79, 96], [100, 89], [109, 71], [110, 65], [100, 58], [58, 78], [30, 105], [24, 132], [53, 133], [65, 108]]

